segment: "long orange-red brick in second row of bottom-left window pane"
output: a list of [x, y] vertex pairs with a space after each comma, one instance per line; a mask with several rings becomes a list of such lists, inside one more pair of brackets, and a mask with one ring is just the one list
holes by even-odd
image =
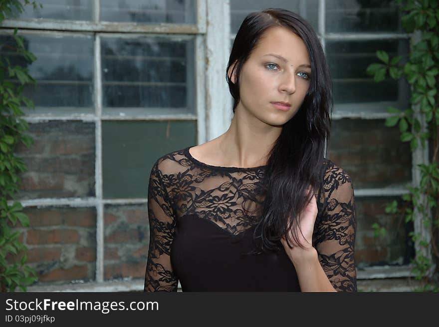
[[73, 229], [57, 229], [51, 231], [27, 231], [27, 244], [71, 244], [79, 241], [79, 233]]

